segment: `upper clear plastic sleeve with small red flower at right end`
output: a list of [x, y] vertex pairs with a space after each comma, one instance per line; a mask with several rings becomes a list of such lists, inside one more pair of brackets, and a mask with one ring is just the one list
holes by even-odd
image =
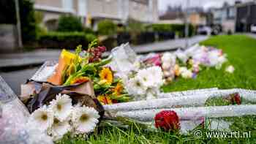
[[[112, 111], [129, 111], [169, 107], [198, 107], [206, 105], [206, 102], [208, 101], [211, 101], [212, 105], [216, 105], [216, 103], [219, 101], [222, 101], [223, 105], [240, 105], [256, 102], [256, 91], [241, 88], [227, 90], [217, 90], [216, 88], [211, 88], [208, 90], [181, 91], [173, 94], [170, 93], [169, 97], [166, 95], [165, 98], [162, 99], [104, 105], [104, 108], [105, 110]], [[181, 94], [189, 95], [181, 96]]]

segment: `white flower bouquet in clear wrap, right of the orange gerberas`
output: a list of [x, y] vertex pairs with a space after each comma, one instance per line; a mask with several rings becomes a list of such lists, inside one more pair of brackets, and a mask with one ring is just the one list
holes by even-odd
[[121, 78], [124, 88], [134, 100], [157, 98], [163, 84], [161, 67], [143, 65], [129, 44], [113, 49], [111, 55], [110, 67], [116, 70], [116, 77]]

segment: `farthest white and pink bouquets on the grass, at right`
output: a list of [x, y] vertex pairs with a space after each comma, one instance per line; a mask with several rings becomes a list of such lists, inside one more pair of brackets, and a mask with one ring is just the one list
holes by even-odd
[[[147, 66], [162, 67], [165, 83], [170, 83], [176, 77], [195, 78], [203, 67], [220, 69], [227, 61], [227, 55], [217, 48], [194, 45], [187, 50], [176, 50], [174, 53], [151, 53], [142, 61]], [[234, 67], [228, 66], [225, 71], [233, 73]]]

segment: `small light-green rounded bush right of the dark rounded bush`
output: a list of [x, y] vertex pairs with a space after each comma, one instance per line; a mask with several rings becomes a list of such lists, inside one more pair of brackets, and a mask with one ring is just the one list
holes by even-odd
[[111, 20], [102, 20], [98, 23], [98, 33], [101, 35], [116, 34], [116, 24]]

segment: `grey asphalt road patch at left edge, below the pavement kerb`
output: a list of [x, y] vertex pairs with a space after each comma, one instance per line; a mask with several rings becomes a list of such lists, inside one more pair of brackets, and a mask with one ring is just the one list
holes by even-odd
[[20, 84], [26, 83], [34, 73], [39, 69], [39, 67], [31, 67], [28, 69], [21, 69], [12, 72], [0, 72], [1, 77], [7, 82], [7, 84], [12, 88], [15, 94], [20, 94]]

